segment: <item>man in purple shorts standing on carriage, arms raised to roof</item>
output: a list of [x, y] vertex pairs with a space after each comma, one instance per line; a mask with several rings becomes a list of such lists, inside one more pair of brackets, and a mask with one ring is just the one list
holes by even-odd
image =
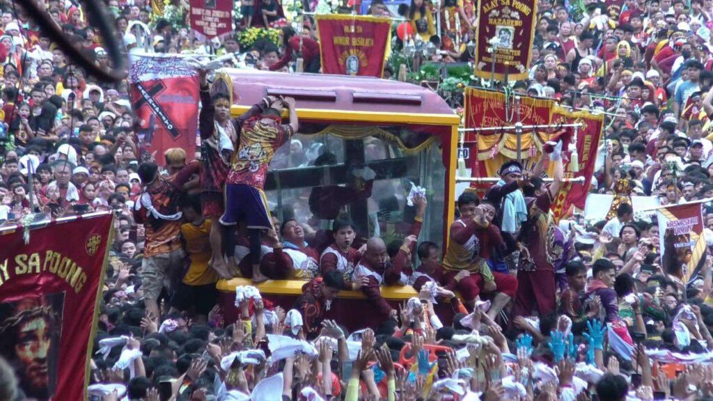
[[[280, 116], [285, 105], [289, 110], [289, 124], [282, 125]], [[263, 99], [247, 111], [247, 116], [238, 118], [239, 123], [242, 121], [245, 122], [236, 127], [242, 130], [238, 131], [240, 139], [225, 180], [225, 213], [220, 223], [237, 225], [238, 220], [245, 221], [250, 236], [252, 280], [262, 283], [267, 277], [260, 272], [260, 230], [273, 229], [262, 188], [275, 151], [289, 141], [299, 127], [294, 98]], [[235, 233], [228, 230], [225, 239], [230, 260], [235, 248]]]

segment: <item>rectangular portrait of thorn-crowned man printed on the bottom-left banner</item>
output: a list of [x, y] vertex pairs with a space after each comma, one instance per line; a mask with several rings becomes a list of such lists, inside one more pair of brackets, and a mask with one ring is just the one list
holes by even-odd
[[0, 303], [0, 355], [14, 367], [22, 400], [56, 391], [64, 293]]

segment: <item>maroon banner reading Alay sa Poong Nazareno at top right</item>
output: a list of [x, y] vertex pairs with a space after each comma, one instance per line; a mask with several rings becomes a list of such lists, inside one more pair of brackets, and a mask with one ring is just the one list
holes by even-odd
[[[478, 0], [476, 76], [498, 81], [528, 78], [537, 25], [537, 1]], [[495, 66], [493, 66], [493, 50]]]

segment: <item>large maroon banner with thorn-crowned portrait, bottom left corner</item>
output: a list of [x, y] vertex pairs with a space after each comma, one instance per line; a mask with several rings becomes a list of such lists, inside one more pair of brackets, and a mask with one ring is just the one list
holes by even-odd
[[112, 221], [0, 229], [0, 355], [28, 400], [86, 400]]

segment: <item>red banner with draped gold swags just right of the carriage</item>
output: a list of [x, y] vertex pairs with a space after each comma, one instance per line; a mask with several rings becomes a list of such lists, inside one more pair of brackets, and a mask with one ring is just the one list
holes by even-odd
[[[550, 123], [554, 102], [523, 96], [515, 101], [505, 93], [466, 88], [465, 128], [488, 128]], [[534, 158], [548, 140], [547, 131], [524, 130], [520, 136], [520, 158]], [[498, 168], [518, 156], [515, 130], [467, 131], [464, 145], [470, 155], [468, 166], [473, 177], [494, 177]]]

